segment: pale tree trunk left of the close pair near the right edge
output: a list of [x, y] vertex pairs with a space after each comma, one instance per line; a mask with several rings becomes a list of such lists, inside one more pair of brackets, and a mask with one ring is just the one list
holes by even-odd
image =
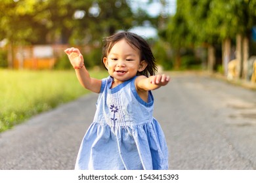
[[224, 39], [223, 45], [223, 71], [224, 75], [228, 75], [228, 61], [230, 61], [230, 55], [231, 55], [231, 41], [229, 38]]

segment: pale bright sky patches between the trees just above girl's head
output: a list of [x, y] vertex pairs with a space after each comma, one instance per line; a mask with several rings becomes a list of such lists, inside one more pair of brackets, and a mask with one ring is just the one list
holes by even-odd
[[[176, 12], [176, 0], [166, 0], [167, 7], [163, 8], [159, 0], [153, 1], [154, 3], [147, 5], [148, 0], [131, 0], [131, 7], [136, 10], [136, 8], [144, 8], [148, 10], [148, 13], [151, 16], [157, 16], [160, 13], [164, 14], [175, 14]], [[158, 31], [151, 27], [150, 25], [145, 25], [144, 27], [134, 27], [129, 31], [133, 33], [137, 33], [140, 36], [150, 38], [150, 37], [157, 37]]]

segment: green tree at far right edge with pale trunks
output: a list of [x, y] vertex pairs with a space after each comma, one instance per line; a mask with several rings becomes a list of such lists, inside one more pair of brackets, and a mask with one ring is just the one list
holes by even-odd
[[223, 67], [227, 70], [230, 60], [231, 40], [236, 39], [236, 59], [238, 60], [238, 77], [247, 73], [249, 58], [249, 40], [251, 28], [255, 22], [255, 0], [221, 1], [213, 0], [209, 16], [210, 27], [218, 27], [219, 39], [223, 41]]

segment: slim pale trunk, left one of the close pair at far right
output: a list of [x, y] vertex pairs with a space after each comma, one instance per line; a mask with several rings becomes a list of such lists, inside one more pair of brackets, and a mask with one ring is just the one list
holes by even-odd
[[242, 35], [236, 35], [236, 73], [237, 77], [240, 78], [242, 75]]

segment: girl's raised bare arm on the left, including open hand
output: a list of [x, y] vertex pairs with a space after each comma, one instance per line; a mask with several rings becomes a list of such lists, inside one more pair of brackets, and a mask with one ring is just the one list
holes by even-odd
[[75, 69], [75, 74], [81, 86], [88, 90], [91, 90], [92, 92], [100, 93], [101, 80], [91, 78], [89, 72], [87, 71], [85, 66], [83, 66], [83, 56], [81, 55], [80, 51], [77, 48], [68, 48], [65, 50], [65, 52], [68, 55], [72, 66], [74, 68], [80, 68]]

